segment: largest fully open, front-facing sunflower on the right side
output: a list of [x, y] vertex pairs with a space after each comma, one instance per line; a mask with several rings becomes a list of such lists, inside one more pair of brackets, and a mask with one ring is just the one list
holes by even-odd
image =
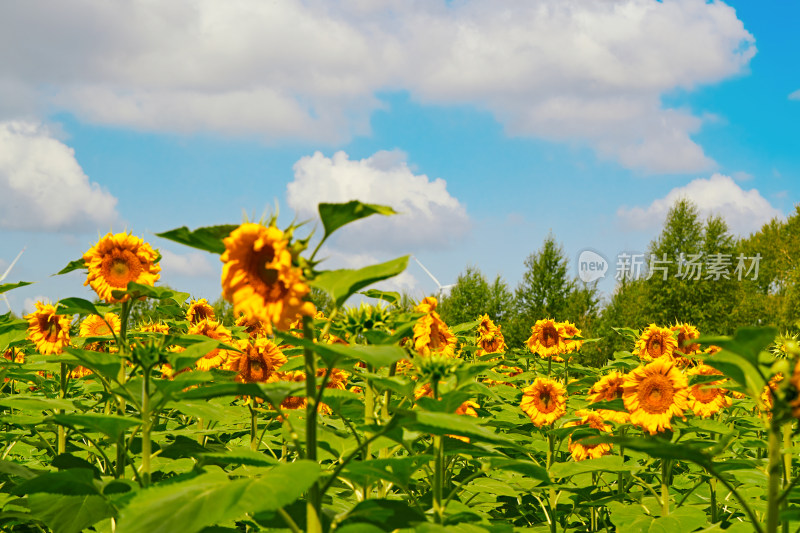
[[631, 370], [623, 381], [622, 400], [631, 423], [651, 435], [672, 429], [672, 417], [689, 408], [688, 396], [686, 376], [666, 357]]

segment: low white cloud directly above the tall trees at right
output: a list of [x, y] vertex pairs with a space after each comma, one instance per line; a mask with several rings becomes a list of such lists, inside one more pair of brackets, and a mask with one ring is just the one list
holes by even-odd
[[667, 211], [680, 198], [694, 202], [703, 217], [712, 214], [724, 217], [731, 232], [738, 235], [758, 231], [774, 217], [783, 216], [757, 189], [745, 191], [731, 177], [722, 174], [676, 187], [646, 208], [620, 207], [617, 216], [626, 226], [635, 229], [660, 227]]

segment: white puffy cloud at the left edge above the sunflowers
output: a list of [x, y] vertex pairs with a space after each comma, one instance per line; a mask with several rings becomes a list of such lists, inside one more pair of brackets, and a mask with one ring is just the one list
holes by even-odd
[[89, 181], [47, 127], [0, 122], [0, 228], [88, 230], [117, 220], [117, 199]]

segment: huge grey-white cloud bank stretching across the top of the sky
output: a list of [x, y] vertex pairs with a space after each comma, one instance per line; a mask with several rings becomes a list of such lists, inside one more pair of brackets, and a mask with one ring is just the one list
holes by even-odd
[[754, 54], [735, 10], [705, 0], [29, 0], [2, 8], [0, 113], [335, 143], [368, 131], [381, 91], [408, 91], [688, 172], [712, 164], [691, 138], [702, 115], [662, 95]]

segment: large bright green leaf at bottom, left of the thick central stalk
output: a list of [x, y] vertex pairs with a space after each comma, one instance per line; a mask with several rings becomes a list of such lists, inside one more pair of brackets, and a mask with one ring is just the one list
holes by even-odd
[[261, 478], [231, 481], [222, 472], [141, 491], [120, 511], [116, 533], [194, 533], [245, 513], [297, 500], [319, 477], [311, 461], [282, 464]]

